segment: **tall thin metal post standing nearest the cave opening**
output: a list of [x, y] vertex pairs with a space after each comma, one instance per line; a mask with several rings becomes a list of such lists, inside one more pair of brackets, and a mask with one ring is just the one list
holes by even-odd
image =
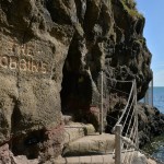
[[101, 71], [101, 113], [99, 113], [99, 134], [103, 133], [103, 71]]

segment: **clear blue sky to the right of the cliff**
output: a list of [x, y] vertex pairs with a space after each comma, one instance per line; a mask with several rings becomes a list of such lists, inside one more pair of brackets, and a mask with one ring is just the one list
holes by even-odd
[[143, 36], [152, 54], [154, 86], [164, 86], [164, 0], [136, 0], [145, 17]]

